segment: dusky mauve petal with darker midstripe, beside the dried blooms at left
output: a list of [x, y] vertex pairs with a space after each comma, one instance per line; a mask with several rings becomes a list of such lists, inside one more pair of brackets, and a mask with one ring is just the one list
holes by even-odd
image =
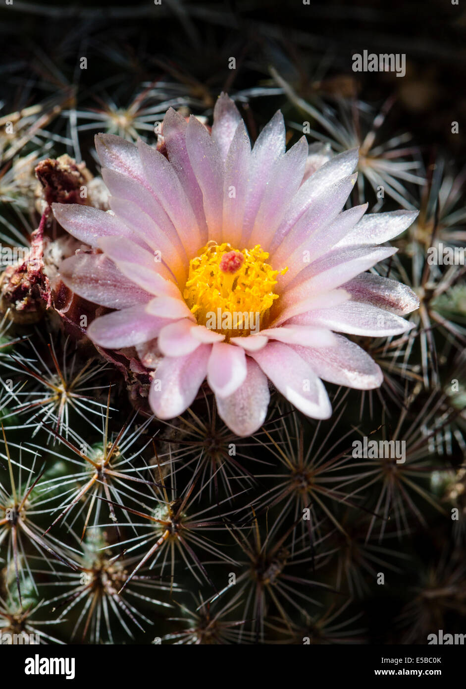
[[60, 264], [60, 277], [75, 294], [109, 309], [146, 304], [152, 295], [128, 280], [104, 254], [76, 254]]

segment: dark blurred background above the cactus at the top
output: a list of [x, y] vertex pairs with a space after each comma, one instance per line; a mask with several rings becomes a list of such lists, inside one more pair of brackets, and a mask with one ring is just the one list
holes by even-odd
[[[396, 94], [395, 124], [402, 121], [423, 145], [464, 156], [464, 127], [452, 135], [450, 123], [466, 112], [465, 23], [461, 3], [450, 0], [13, 0], [0, 6], [0, 99], [3, 112], [12, 112], [68, 87], [78, 105], [95, 107], [105, 90], [124, 103], [141, 82], [168, 78], [209, 112], [222, 89], [272, 85], [273, 65], [304, 98], [343, 93], [377, 103]], [[405, 78], [354, 74], [351, 56], [364, 49], [405, 53]], [[87, 70], [78, 69], [83, 55]], [[228, 69], [229, 56], [236, 70]], [[271, 107], [268, 101], [266, 119]]]

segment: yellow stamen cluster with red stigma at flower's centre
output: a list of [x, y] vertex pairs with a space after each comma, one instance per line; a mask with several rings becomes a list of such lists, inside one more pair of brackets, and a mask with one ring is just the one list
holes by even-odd
[[266, 328], [279, 296], [273, 292], [275, 278], [287, 270], [273, 270], [267, 259], [259, 244], [238, 251], [209, 242], [190, 261], [183, 292], [198, 324], [224, 334], [226, 341]]

